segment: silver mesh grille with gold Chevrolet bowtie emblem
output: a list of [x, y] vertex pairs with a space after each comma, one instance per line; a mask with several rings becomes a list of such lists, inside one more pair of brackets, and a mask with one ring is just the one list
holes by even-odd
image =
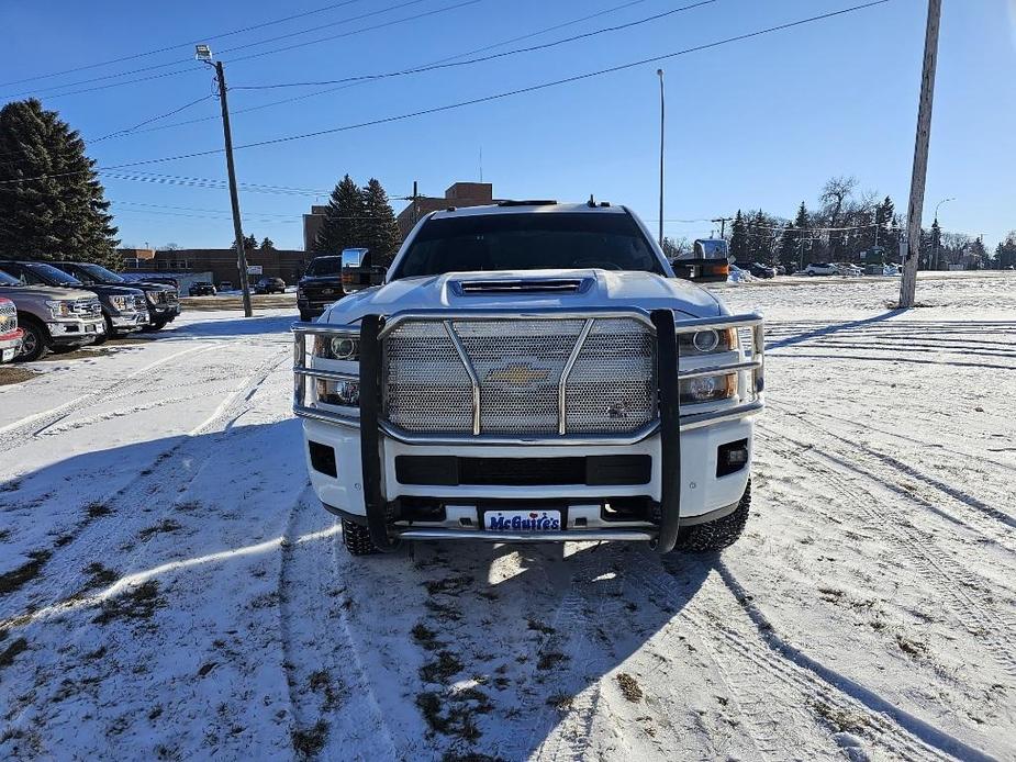
[[[559, 434], [559, 388], [585, 321], [449, 323], [480, 392], [480, 433]], [[596, 318], [566, 383], [566, 433], [636, 432], [657, 415], [655, 340], [635, 318]], [[402, 323], [384, 339], [384, 415], [407, 432], [470, 434], [472, 382], [445, 324]]]

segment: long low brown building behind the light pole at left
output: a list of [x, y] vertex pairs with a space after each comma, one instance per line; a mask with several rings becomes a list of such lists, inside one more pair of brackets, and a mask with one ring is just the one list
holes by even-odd
[[[142, 272], [211, 272], [212, 282], [239, 283], [236, 267], [236, 249], [120, 249], [124, 271]], [[261, 268], [261, 274], [281, 278], [288, 284], [295, 283], [306, 269], [312, 255], [291, 249], [247, 249], [247, 265]], [[252, 274], [252, 282], [261, 276]]]

